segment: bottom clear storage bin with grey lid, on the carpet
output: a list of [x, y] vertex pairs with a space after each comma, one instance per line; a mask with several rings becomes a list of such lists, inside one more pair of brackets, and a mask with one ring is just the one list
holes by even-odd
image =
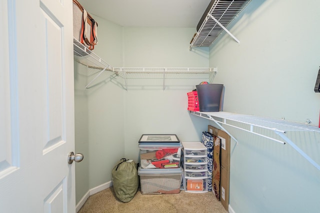
[[182, 169], [140, 169], [141, 194], [177, 194], [180, 192]]

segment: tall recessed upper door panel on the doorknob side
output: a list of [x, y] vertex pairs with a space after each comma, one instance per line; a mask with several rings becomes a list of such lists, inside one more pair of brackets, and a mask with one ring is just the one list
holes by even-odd
[[[42, 5], [42, 4], [40, 4]], [[43, 23], [45, 28], [45, 42], [46, 46], [46, 114], [47, 114], [47, 139], [44, 141], [45, 154], [54, 146], [61, 144], [62, 138], [62, 55], [63, 55], [63, 25], [57, 21], [57, 18], [48, 13], [47, 8], [42, 5], [43, 9]]]

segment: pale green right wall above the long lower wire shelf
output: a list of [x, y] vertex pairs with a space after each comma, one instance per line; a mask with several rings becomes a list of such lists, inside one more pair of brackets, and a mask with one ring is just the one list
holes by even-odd
[[[224, 110], [318, 123], [319, 1], [251, 1], [210, 48], [215, 80], [225, 84]], [[230, 75], [230, 73], [232, 73]]]

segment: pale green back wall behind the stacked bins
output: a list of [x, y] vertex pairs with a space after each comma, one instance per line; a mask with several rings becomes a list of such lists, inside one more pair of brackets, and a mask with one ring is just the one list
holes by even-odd
[[[189, 51], [193, 28], [124, 28], [125, 67], [208, 67], [208, 48]], [[201, 76], [201, 75], [200, 75]], [[138, 140], [142, 134], [176, 134], [181, 141], [199, 141], [207, 121], [187, 113], [187, 92], [206, 78], [196, 75], [148, 74], [128, 79], [124, 93], [125, 156], [139, 160]]]

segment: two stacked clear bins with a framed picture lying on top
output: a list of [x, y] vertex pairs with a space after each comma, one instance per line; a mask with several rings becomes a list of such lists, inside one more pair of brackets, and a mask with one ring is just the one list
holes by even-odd
[[176, 135], [142, 135], [139, 142], [141, 194], [180, 192], [182, 145]]

